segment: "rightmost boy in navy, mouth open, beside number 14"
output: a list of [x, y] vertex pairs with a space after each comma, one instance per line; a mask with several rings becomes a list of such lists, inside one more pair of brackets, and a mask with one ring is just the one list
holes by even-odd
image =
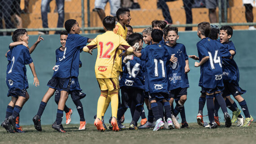
[[[230, 41], [229, 39], [233, 35], [233, 29], [230, 26], [222, 26], [220, 29], [220, 42], [221, 44], [224, 44], [230, 51], [231, 55], [233, 56], [233, 59], [223, 59], [224, 61], [224, 68], [223, 68], [223, 83], [224, 83], [224, 91], [223, 96], [230, 96], [231, 94], [234, 96], [234, 98], [238, 101], [238, 104], [241, 106], [243, 113], [245, 115], [245, 122], [243, 127], [249, 127], [253, 121], [252, 116], [249, 113], [246, 101], [241, 96], [246, 91], [244, 91], [241, 87], [239, 87], [239, 70], [236, 62], [234, 61], [234, 56], [236, 54], [236, 50], [234, 47], [234, 43]], [[235, 103], [233, 105], [236, 106]], [[233, 112], [232, 122], [235, 122], [238, 114], [239, 109], [237, 111]], [[239, 117], [238, 117], [239, 118]], [[242, 121], [243, 118], [238, 119], [238, 121]], [[237, 126], [241, 126], [241, 122]]]

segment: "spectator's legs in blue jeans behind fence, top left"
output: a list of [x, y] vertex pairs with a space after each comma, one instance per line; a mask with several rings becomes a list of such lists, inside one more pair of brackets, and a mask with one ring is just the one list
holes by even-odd
[[[48, 28], [48, 11], [47, 8], [52, 0], [42, 0], [41, 2], [41, 16], [43, 21], [43, 27]], [[65, 0], [56, 0], [57, 11], [58, 11], [58, 22], [57, 27], [63, 27], [64, 24], [64, 1]], [[56, 31], [55, 34], [60, 34], [61, 31]], [[39, 31], [40, 35], [47, 35], [49, 31]]]

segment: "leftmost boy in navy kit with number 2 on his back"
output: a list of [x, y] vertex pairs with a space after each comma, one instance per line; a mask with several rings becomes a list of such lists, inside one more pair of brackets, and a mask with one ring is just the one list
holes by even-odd
[[[13, 32], [12, 39], [13, 42], [25, 42], [28, 44], [29, 36], [25, 29], [17, 29]], [[9, 55], [9, 63], [6, 71], [6, 84], [9, 88], [7, 96], [12, 96], [12, 100], [7, 106], [6, 118], [1, 126], [4, 127], [6, 131], [14, 133], [17, 130], [15, 120], [26, 101], [28, 82], [26, 79], [25, 65], [30, 66], [34, 76], [33, 84], [35, 84], [36, 87], [39, 85], [39, 81], [28, 48], [23, 45], [17, 45], [13, 48], [10, 47], [10, 51], [7, 55]]]

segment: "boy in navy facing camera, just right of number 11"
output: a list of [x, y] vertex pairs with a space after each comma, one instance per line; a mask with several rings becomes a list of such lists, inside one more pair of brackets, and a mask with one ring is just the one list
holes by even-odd
[[[185, 118], [184, 103], [187, 99], [187, 88], [189, 87], [189, 80], [187, 73], [190, 71], [189, 60], [183, 44], [176, 43], [179, 39], [177, 27], [167, 27], [165, 29], [165, 37], [168, 43], [165, 44], [169, 54], [172, 55], [170, 65], [168, 65], [168, 82], [169, 95], [171, 97], [170, 105], [173, 105], [173, 100], [176, 101], [176, 107], [172, 111], [174, 117], [181, 113], [182, 128], [188, 127]], [[180, 128], [180, 124], [173, 118], [174, 126]]]

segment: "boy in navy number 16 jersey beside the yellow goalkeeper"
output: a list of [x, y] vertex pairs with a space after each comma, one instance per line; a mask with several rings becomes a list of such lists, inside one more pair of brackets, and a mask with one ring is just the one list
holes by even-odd
[[[134, 33], [128, 37], [128, 44], [134, 45], [139, 43], [138, 50], [140, 51], [143, 45], [142, 35]], [[144, 72], [145, 61], [141, 61], [138, 57], [133, 57], [130, 61], [123, 61], [123, 76], [120, 79], [120, 88], [122, 94], [122, 104], [118, 109], [118, 120], [124, 115], [127, 108], [130, 108], [132, 114], [132, 122], [129, 129], [137, 129], [137, 121], [142, 112], [144, 103]], [[120, 127], [119, 127], [120, 128]]]

